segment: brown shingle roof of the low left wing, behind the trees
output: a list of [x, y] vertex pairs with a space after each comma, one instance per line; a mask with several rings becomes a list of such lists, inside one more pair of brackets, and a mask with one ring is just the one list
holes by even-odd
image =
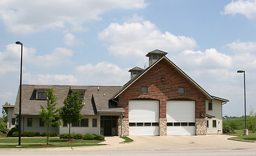
[[[85, 90], [85, 106], [81, 110], [81, 114], [94, 115], [97, 110], [123, 110], [117, 107], [117, 103], [109, 102], [109, 99], [120, 90], [121, 86], [22, 85], [21, 114], [38, 115], [41, 110], [40, 105], [46, 107], [47, 103], [46, 100], [36, 99], [36, 90], [47, 90], [51, 87], [55, 90], [54, 94], [58, 98], [57, 108], [63, 106], [63, 101], [70, 94], [70, 90]], [[18, 114], [19, 101], [20, 91], [18, 90], [14, 114]]]

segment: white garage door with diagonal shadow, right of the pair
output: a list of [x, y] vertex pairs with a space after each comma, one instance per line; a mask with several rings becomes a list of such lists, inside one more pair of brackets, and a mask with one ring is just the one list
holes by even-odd
[[195, 101], [167, 101], [167, 135], [195, 135]]

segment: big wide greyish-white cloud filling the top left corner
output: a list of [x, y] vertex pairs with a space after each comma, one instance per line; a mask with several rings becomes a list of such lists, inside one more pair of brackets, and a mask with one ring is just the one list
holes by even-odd
[[[144, 0], [100, 1], [0, 1], [0, 19], [8, 31], [27, 34], [72, 25], [74, 31], [84, 31], [83, 23], [100, 20], [100, 14], [115, 8], [145, 8]], [[22, 31], [20, 31], [22, 30]]]

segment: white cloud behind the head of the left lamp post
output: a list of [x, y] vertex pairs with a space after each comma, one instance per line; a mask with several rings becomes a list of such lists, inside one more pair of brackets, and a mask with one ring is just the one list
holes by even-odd
[[[21, 47], [16, 44], [8, 44], [5, 51], [0, 52], [0, 73], [12, 73], [20, 71]], [[69, 61], [72, 57], [72, 50], [57, 47], [52, 53], [46, 55], [36, 55], [36, 49], [23, 47], [23, 63], [35, 66], [58, 66]]]

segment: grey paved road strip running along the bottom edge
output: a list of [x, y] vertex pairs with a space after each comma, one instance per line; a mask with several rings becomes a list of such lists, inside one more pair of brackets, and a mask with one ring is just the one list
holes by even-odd
[[0, 151], [0, 155], [7, 155], [7, 156], [65, 156], [65, 155], [104, 155], [104, 156], [152, 156], [152, 155], [249, 155], [254, 156], [256, 155], [256, 149], [221, 149], [221, 150], [188, 150], [188, 151], [28, 151], [28, 150], [22, 150], [22, 151]]

